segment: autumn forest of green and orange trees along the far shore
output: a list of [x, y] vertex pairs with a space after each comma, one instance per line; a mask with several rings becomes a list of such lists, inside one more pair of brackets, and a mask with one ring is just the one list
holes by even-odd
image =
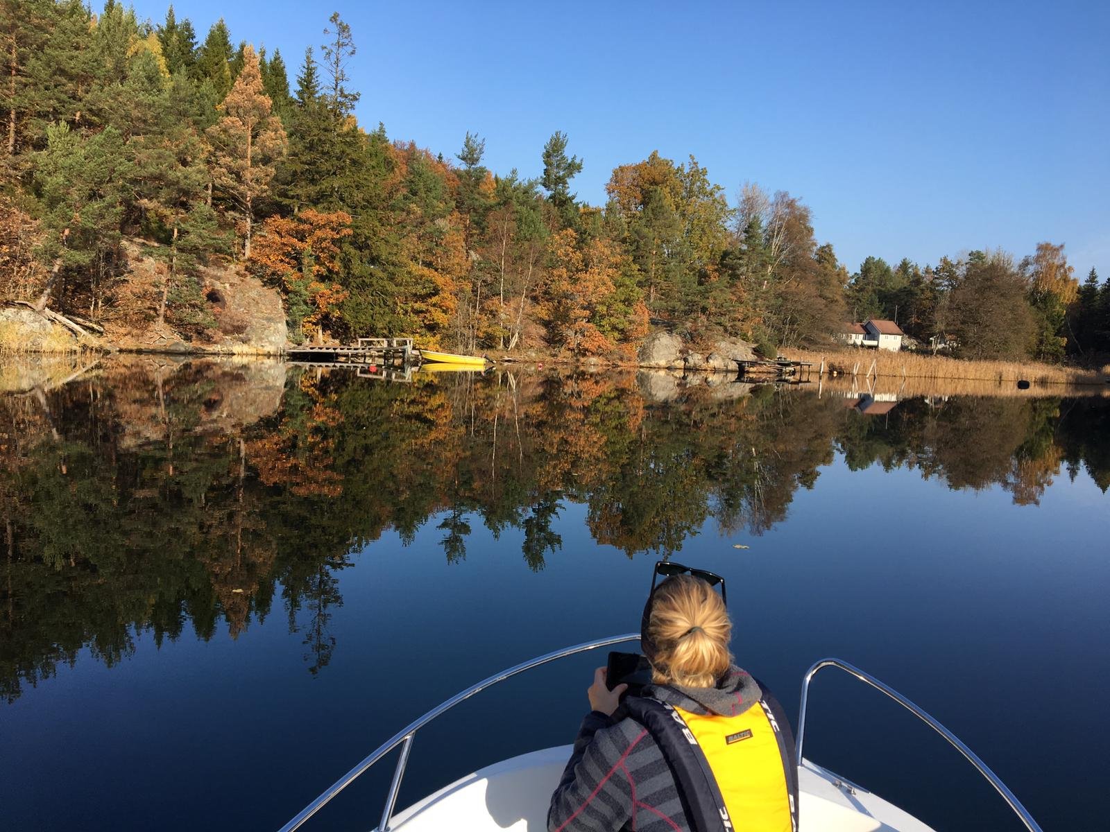
[[[172, 7], [157, 24], [115, 0], [0, 13], [0, 298], [93, 323], [139, 315], [203, 343], [201, 268], [222, 263], [280, 291], [294, 342], [413, 335], [619, 359], [664, 327], [770, 354], [884, 317], [967, 357], [1110, 351], [1110, 281], [1091, 268], [1080, 284], [1062, 244], [868, 257], [852, 273], [799, 199], [744, 183], [730, 200], [694, 156], [616, 168], [598, 206], [577, 197], [585, 162], [557, 130], [534, 176], [490, 171], [478, 134], [454, 153], [391, 139], [355, 119], [339, 13], [292, 72], [222, 20], [201, 39]], [[127, 241], [159, 263], [138, 306], [117, 291]]]

